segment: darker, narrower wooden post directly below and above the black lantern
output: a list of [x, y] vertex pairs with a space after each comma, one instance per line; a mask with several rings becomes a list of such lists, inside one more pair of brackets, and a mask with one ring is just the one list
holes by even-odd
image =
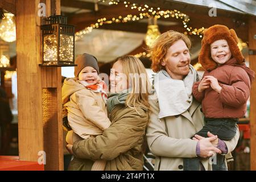
[[[60, 0], [46, 0], [46, 16], [60, 15]], [[46, 170], [63, 170], [61, 68], [42, 67], [44, 151]]]

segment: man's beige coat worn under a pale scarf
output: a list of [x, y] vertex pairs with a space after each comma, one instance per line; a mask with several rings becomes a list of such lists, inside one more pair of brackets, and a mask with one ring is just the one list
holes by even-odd
[[[180, 115], [159, 119], [158, 100], [150, 100], [150, 123], [147, 127], [147, 143], [152, 154], [156, 155], [155, 170], [183, 170], [183, 158], [196, 157], [196, 140], [190, 139], [204, 126], [201, 105], [195, 99], [189, 110]], [[228, 152], [234, 150], [239, 138], [237, 134], [228, 142]], [[205, 170], [212, 170], [208, 159], [202, 159]]]

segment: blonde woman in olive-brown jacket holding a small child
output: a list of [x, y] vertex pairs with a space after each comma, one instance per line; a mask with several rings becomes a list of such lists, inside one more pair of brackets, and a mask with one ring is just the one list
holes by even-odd
[[148, 122], [150, 82], [141, 61], [119, 57], [110, 75], [107, 102], [112, 122], [102, 135], [73, 144], [69, 170], [90, 170], [94, 160], [107, 160], [105, 170], [142, 170], [142, 143]]

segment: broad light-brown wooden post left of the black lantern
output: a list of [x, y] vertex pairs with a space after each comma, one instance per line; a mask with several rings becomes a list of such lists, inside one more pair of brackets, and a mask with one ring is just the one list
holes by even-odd
[[16, 0], [19, 159], [34, 162], [44, 151], [39, 2]]

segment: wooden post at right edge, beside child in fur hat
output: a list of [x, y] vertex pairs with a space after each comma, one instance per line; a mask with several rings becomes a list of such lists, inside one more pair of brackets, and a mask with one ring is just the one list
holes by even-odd
[[[249, 20], [249, 49], [254, 50], [253, 55], [249, 55], [250, 68], [256, 72], [256, 19], [251, 17]], [[250, 138], [250, 168], [256, 170], [256, 82], [253, 82], [251, 86], [250, 95], [250, 127], [251, 127], [251, 138]]]

